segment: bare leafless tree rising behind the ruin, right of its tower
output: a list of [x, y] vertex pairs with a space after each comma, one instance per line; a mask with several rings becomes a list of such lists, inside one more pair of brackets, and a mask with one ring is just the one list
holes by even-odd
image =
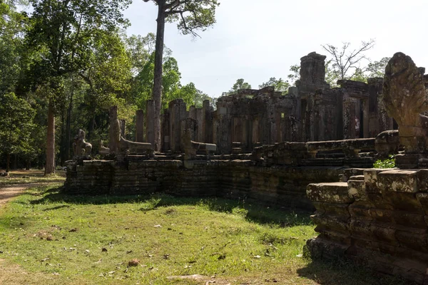
[[365, 70], [362, 69], [363, 60], [368, 60], [365, 51], [374, 47], [374, 40], [362, 41], [360, 47], [350, 48], [350, 43], [343, 43], [341, 48], [337, 48], [329, 43], [321, 45], [332, 57], [332, 73], [338, 79], [352, 79]]

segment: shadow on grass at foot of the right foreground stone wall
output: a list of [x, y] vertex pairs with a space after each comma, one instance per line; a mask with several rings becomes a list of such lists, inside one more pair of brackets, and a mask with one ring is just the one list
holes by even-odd
[[312, 260], [302, 269], [297, 269], [297, 274], [307, 279], [312, 279], [318, 284], [329, 285], [413, 285], [409, 281], [396, 276], [380, 274], [370, 270], [361, 264], [355, 264], [346, 259]]

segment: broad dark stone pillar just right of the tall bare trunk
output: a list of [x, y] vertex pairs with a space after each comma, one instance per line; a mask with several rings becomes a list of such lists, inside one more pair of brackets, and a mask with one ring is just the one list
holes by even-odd
[[172, 100], [168, 104], [170, 114], [170, 149], [172, 152], [181, 150], [181, 121], [187, 118], [183, 99]]

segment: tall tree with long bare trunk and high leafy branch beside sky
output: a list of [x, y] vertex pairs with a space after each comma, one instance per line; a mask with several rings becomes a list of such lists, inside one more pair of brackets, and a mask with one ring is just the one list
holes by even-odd
[[[150, 0], [143, 0], [148, 2]], [[198, 36], [198, 30], [215, 23], [215, 8], [218, 0], [151, 0], [158, 6], [156, 28], [156, 48], [154, 64], [153, 100], [155, 101], [155, 150], [161, 150], [161, 102], [162, 67], [165, 22], [178, 22], [178, 30], [183, 34]]]

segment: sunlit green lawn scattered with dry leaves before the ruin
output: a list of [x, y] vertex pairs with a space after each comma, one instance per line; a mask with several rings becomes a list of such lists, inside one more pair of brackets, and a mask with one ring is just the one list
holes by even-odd
[[[0, 284], [405, 284], [302, 257], [316, 235], [307, 212], [215, 198], [66, 196], [58, 186], [0, 208]], [[199, 279], [183, 277], [192, 274]]]

